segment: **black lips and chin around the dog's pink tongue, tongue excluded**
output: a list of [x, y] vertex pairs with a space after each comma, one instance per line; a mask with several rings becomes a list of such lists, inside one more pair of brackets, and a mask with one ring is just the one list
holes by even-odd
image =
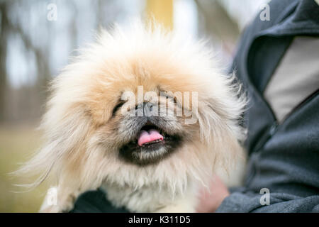
[[170, 135], [165, 133], [162, 128], [154, 125], [143, 126], [141, 131], [156, 130], [162, 135], [161, 139], [153, 140], [149, 143], [139, 144], [138, 138], [130, 140], [119, 149], [119, 156], [121, 160], [131, 163], [133, 165], [154, 165], [164, 158], [167, 158], [177, 148], [181, 146], [182, 136], [179, 134]]

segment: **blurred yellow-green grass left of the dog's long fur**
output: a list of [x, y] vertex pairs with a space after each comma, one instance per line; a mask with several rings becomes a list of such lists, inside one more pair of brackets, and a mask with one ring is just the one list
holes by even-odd
[[33, 126], [0, 126], [0, 212], [37, 212], [40, 208], [47, 185], [21, 192], [21, 188], [13, 184], [28, 179], [9, 175], [28, 160], [40, 144], [40, 132]]

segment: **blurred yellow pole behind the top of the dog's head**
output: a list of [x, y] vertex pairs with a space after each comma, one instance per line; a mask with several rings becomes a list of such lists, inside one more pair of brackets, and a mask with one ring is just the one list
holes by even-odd
[[165, 28], [173, 29], [173, 0], [147, 0], [147, 18], [155, 18]]

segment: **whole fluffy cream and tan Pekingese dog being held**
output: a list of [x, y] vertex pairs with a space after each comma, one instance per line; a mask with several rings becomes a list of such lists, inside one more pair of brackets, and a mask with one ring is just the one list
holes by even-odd
[[51, 84], [45, 145], [21, 171], [57, 178], [57, 204], [102, 189], [138, 212], [194, 212], [198, 189], [232, 170], [245, 133], [233, 76], [211, 51], [160, 26], [103, 31]]

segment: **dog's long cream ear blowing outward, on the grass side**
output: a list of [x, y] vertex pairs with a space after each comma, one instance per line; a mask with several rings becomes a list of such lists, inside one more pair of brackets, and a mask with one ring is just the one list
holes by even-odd
[[[90, 131], [90, 118], [82, 106], [67, 106], [52, 96], [40, 130], [44, 132], [44, 145], [26, 162], [15, 175], [37, 176], [34, 182], [24, 187], [37, 187], [50, 173], [60, 174], [69, 165], [78, 162], [86, 146]], [[72, 164], [73, 163], [73, 164]]]

